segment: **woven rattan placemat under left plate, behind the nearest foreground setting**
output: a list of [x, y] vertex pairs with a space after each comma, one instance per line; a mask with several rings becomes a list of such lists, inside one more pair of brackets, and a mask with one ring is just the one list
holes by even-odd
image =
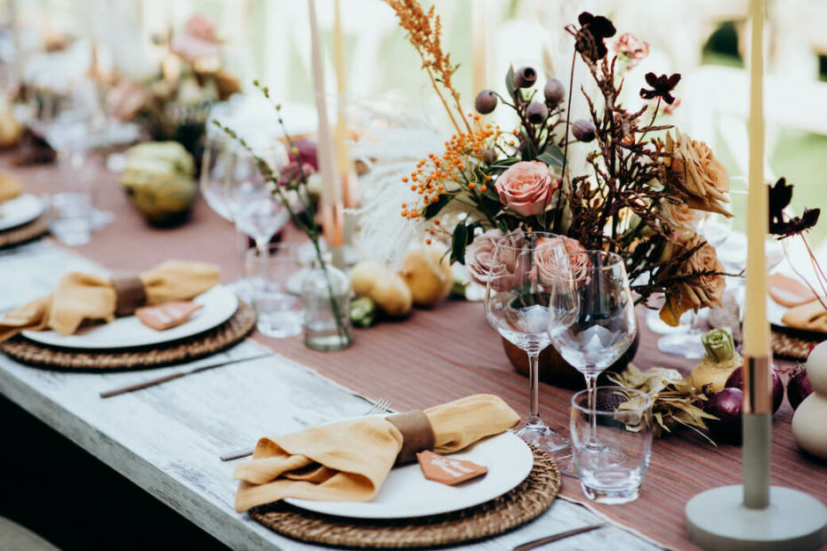
[[245, 302], [229, 320], [187, 339], [127, 350], [78, 350], [49, 347], [18, 335], [0, 350], [22, 362], [60, 371], [116, 371], [161, 367], [214, 354], [243, 340], [255, 325], [255, 311]]

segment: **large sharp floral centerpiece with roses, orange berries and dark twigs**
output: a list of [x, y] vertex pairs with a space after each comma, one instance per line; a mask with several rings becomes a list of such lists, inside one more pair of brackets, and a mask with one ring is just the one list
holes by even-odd
[[[411, 194], [401, 216], [419, 225], [427, 241], [450, 242], [453, 259], [485, 283], [500, 236], [518, 228], [551, 231], [570, 250], [620, 254], [640, 301], [664, 294], [667, 323], [677, 324], [690, 308], [719, 305], [724, 268], [695, 227], [704, 212], [729, 215], [729, 179], [707, 144], [658, 124], [662, 107], [676, 102], [680, 75], [647, 74], [639, 92], [647, 103], [638, 110], [622, 105], [622, 87], [630, 84], [621, 67], [645, 56], [646, 43], [624, 35], [610, 53], [606, 39], [615, 35], [614, 24], [583, 12], [566, 31], [598, 90], [592, 97], [582, 89], [589, 118], [570, 120], [574, 67], [567, 89], [556, 78], [540, 85], [534, 68], [510, 68], [507, 96], [479, 92], [472, 115], [452, 84], [457, 66], [442, 51], [433, 7], [386, 2], [454, 124], [444, 152], [423, 158], [402, 178]], [[486, 123], [483, 117], [497, 108], [513, 111], [518, 127]], [[575, 142], [593, 145], [582, 174], [569, 166]]]

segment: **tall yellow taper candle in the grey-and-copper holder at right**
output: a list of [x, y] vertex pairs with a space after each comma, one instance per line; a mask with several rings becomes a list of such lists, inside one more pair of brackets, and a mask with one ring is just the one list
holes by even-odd
[[[769, 354], [767, 323], [767, 259], [764, 250], [769, 227], [764, 183], [764, 15], [766, 0], [751, 0], [750, 172], [747, 199], [747, 282], [743, 323], [747, 356]], [[767, 374], [768, 375], [768, 374]]]

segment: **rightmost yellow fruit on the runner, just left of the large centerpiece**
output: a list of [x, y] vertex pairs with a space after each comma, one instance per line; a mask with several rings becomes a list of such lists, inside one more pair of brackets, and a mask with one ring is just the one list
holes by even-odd
[[433, 307], [442, 302], [454, 286], [454, 270], [438, 244], [422, 246], [408, 252], [399, 275], [405, 280], [416, 306]]

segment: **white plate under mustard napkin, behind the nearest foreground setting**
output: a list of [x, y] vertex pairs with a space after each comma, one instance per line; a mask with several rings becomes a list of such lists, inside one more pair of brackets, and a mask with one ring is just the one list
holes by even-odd
[[184, 339], [200, 332], [213, 329], [226, 322], [236, 312], [238, 299], [223, 285], [216, 285], [198, 295], [193, 302], [204, 305], [197, 310], [187, 323], [166, 331], [150, 329], [138, 317], [126, 315], [110, 323], [92, 325], [77, 331], [74, 335], [61, 335], [55, 331], [23, 331], [27, 339], [52, 347], [67, 348], [124, 348], [145, 347], [171, 340]]

